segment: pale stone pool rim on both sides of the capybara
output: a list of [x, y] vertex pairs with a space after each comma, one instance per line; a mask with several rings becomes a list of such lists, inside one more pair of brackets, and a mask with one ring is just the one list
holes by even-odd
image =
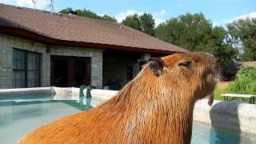
[[[45, 93], [53, 96], [54, 99], [71, 98], [78, 99], [79, 88], [75, 87], [40, 87], [26, 89], [0, 90], [1, 94], [35, 94]], [[86, 94], [86, 90], [83, 91]], [[118, 90], [91, 90], [92, 98], [105, 102], [113, 98]], [[208, 99], [198, 100], [194, 106], [194, 120], [206, 122], [212, 126], [234, 130], [238, 133], [246, 132], [256, 134], [256, 104], [241, 102], [223, 102], [214, 100], [212, 106], [208, 106]]]

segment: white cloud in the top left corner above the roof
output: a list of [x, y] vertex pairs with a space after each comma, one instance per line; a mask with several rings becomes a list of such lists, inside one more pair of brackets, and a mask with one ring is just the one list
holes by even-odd
[[[0, 0], [0, 3], [5, 3], [14, 6], [23, 6], [34, 8], [34, 2], [32, 0]], [[50, 4], [50, 0], [38, 0], [36, 3], [36, 9], [45, 9]]]

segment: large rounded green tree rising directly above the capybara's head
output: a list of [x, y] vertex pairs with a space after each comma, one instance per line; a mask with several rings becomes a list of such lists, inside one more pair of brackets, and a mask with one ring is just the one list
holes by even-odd
[[156, 34], [166, 42], [195, 51], [202, 49], [201, 43], [206, 44], [210, 25], [202, 14], [185, 14], [160, 24]]

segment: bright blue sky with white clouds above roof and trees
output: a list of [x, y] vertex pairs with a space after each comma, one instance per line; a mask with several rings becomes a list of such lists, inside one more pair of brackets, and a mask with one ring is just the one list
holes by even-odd
[[[34, 7], [32, 0], [0, 0], [0, 2]], [[38, 0], [36, 7], [50, 10], [47, 7], [49, 2], [50, 0]], [[224, 26], [226, 22], [242, 18], [247, 14], [256, 18], [256, 0], [54, 0], [54, 6], [56, 11], [68, 6], [73, 9], [86, 8], [97, 14], [114, 16], [119, 22], [133, 13], [153, 14], [156, 23], [159, 23], [181, 14], [202, 12], [207, 19], [218, 26]]]

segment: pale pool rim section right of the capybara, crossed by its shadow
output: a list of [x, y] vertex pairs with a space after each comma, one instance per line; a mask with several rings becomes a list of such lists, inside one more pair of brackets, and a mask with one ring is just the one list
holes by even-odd
[[208, 106], [207, 101], [195, 103], [194, 120], [238, 133], [256, 134], [256, 104], [214, 100], [213, 105]]

